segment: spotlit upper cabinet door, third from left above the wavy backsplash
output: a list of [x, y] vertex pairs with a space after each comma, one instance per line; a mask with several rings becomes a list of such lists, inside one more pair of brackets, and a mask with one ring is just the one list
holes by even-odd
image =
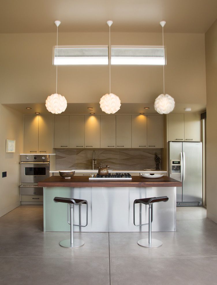
[[85, 115], [85, 148], [100, 148], [100, 115]]

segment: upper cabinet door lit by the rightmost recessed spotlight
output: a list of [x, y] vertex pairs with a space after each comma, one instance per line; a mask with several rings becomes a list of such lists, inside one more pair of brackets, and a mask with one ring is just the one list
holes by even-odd
[[132, 115], [132, 148], [147, 148], [146, 115]]

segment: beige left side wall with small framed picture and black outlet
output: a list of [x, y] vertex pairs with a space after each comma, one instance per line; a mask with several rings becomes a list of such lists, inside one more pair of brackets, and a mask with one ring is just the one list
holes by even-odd
[[[6, 138], [16, 140], [16, 152], [6, 153]], [[0, 104], [0, 217], [20, 205], [19, 159], [23, 151], [23, 115]], [[7, 177], [2, 178], [2, 172]]]

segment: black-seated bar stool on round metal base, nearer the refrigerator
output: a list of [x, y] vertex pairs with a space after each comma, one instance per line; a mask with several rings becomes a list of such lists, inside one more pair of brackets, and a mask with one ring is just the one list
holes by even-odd
[[143, 226], [147, 224], [142, 225], [136, 225], [135, 224], [135, 204], [142, 203], [145, 205], [149, 205], [148, 209], [148, 238], [144, 238], [142, 240], [138, 241], [138, 244], [140, 246], [145, 246], [148, 248], [156, 248], [161, 246], [163, 243], [160, 240], [151, 239], [151, 223], [153, 221], [153, 203], [156, 202], [167, 202], [169, 198], [167, 196], [163, 197], [151, 197], [151, 198], [144, 198], [144, 199], [136, 199], [133, 202], [133, 223], [135, 226]]

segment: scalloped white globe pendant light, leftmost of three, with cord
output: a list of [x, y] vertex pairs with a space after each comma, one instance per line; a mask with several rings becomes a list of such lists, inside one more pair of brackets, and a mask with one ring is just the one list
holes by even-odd
[[[56, 20], [54, 23], [57, 26], [57, 54], [58, 54], [58, 26], [60, 25], [61, 22]], [[57, 68], [56, 68], [56, 93], [47, 97], [45, 106], [47, 110], [53, 114], [60, 114], [64, 112], [67, 107], [66, 98], [60, 94], [57, 94]]]

